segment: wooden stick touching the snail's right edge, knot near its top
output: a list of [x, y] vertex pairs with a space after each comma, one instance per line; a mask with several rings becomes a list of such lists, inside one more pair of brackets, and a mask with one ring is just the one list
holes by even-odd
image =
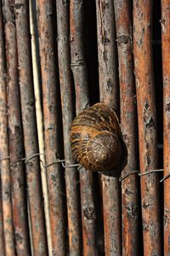
[[[137, 168], [132, 22], [129, 1], [114, 0], [114, 4], [121, 90], [121, 128], [124, 143], [122, 177], [124, 177]], [[138, 255], [138, 240], [138, 189], [137, 176], [133, 174], [122, 181], [122, 255]]]

